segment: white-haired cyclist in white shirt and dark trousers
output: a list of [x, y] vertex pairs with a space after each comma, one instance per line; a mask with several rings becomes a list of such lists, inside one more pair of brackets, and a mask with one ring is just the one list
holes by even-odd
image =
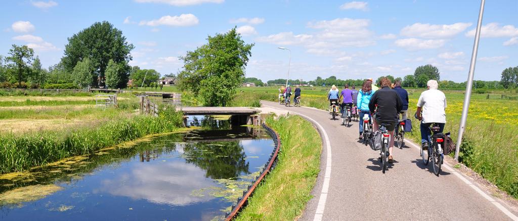
[[[446, 96], [438, 90], [438, 83], [435, 80], [430, 80], [426, 83], [428, 90], [421, 93], [418, 100], [418, 108], [415, 112], [418, 119], [421, 120], [421, 145], [424, 150], [428, 150], [430, 143], [430, 125], [437, 123], [440, 130], [437, 133], [442, 133], [444, 124], [446, 123]], [[421, 114], [422, 110], [422, 114]]]

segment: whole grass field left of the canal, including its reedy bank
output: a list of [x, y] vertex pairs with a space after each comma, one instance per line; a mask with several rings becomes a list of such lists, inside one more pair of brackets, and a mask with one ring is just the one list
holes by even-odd
[[172, 108], [159, 117], [138, 115], [133, 93], [118, 94], [118, 108], [107, 109], [95, 107], [92, 93], [61, 95], [15, 91], [0, 97], [0, 173], [170, 132], [182, 122]]

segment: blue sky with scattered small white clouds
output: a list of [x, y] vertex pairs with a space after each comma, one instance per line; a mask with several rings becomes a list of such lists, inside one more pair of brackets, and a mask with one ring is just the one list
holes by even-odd
[[[35, 49], [45, 67], [63, 56], [67, 38], [109, 21], [135, 45], [131, 65], [162, 74], [182, 68], [178, 56], [234, 26], [255, 43], [247, 77], [263, 81], [316, 76], [403, 77], [420, 65], [441, 80], [466, 81], [479, 1], [3, 1], [0, 54], [11, 44]], [[475, 78], [500, 80], [518, 66], [518, 1], [487, 1]]]

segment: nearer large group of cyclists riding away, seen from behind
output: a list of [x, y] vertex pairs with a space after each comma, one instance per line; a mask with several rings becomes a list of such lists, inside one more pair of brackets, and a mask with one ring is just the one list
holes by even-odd
[[[408, 92], [401, 87], [401, 81], [392, 83], [389, 78], [383, 77], [379, 82], [378, 88], [372, 78], [364, 81], [360, 90], [349, 89], [349, 85], [344, 85], [344, 89], [339, 93], [335, 85], [329, 90], [327, 99], [330, 105], [341, 102], [342, 117], [347, 107], [356, 105], [359, 119], [368, 116], [372, 123], [373, 131], [377, 131], [380, 125], [384, 125], [390, 133], [389, 157], [388, 162], [393, 163], [394, 131], [401, 120], [407, 119], [408, 112]], [[434, 133], [442, 133], [446, 123], [446, 97], [438, 90], [438, 83], [435, 80], [427, 82], [428, 90], [421, 93], [417, 103], [415, 118], [421, 121], [421, 145], [427, 150], [430, 145], [430, 125], [439, 125], [440, 130]], [[401, 117], [399, 115], [401, 114]], [[365, 117], [366, 119], [367, 117]], [[362, 139], [364, 130], [363, 124], [359, 124], [359, 139]]]

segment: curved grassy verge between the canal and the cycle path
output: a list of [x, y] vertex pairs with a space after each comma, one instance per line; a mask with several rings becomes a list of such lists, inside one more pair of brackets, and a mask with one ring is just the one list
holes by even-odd
[[237, 220], [294, 220], [311, 199], [320, 168], [322, 141], [311, 123], [298, 116], [269, 117], [282, 140], [277, 167], [266, 177]]

